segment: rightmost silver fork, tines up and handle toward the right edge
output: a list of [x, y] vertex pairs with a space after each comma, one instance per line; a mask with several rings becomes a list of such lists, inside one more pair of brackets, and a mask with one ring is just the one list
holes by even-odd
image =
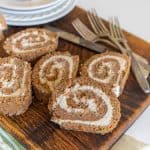
[[133, 56], [132, 49], [129, 47], [127, 40], [124, 36], [123, 31], [121, 30], [118, 18], [111, 18], [109, 22], [109, 28], [111, 32], [111, 40], [119, 47], [119, 49], [123, 53], [127, 53], [132, 60], [131, 67], [132, 71], [134, 72], [134, 75], [140, 85], [140, 87], [143, 89], [145, 93], [150, 93], [150, 85], [148, 81], [144, 78], [144, 75], [141, 71], [141, 68]]

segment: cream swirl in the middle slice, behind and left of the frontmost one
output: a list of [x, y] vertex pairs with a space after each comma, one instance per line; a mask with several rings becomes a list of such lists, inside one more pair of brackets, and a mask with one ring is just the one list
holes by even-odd
[[[58, 61], [59, 59], [62, 59], [62, 61]], [[65, 69], [65, 63], [67, 62], [67, 70], [69, 70], [68, 78], [72, 78], [73, 74], [73, 58], [70, 56], [65, 55], [56, 55], [52, 56], [46, 61], [43, 62], [43, 64], [40, 66], [39, 71], [39, 79], [42, 84], [47, 84], [49, 87], [52, 86], [53, 82], [51, 80], [48, 80], [45, 74], [45, 68], [48, 64], [52, 64], [50, 69], [50, 73], [53, 74], [54, 70], [57, 69], [59, 71], [57, 79], [55, 79], [55, 83], [59, 82], [61, 79], [63, 79], [63, 70]]]

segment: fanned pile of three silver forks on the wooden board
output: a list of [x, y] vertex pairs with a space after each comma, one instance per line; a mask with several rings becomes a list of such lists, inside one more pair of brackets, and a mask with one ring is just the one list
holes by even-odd
[[72, 22], [76, 31], [86, 40], [105, 43], [129, 55], [132, 60], [132, 71], [137, 82], [145, 93], [150, 93], [150, 85], [147, 80], [150, 73], [150, 66], [147, 60], [132, 51], [120, 27], [118, 18], [110, 18], [109, 27], [107, 27], [103, 23], [103, 20], [97, 15], [95, 9], [88, 11], [87, 17], [94, 32], [82, 23], [79, 18]]

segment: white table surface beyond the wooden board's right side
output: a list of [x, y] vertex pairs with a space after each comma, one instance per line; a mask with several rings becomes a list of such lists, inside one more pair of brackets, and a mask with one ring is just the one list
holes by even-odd
[[[150, 0], [78, 0], [77, 5], [95, 8], [105, 19], [118, 16], [124, 29], [150, 41]], [[125, 134], [150, 144], [150, 106]]]

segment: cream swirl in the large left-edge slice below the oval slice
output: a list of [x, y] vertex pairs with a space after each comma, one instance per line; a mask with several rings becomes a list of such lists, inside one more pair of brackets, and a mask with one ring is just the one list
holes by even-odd
[[[10, 58], [9, 63], [3, 63], [0, 65], [0, 97], [16, 97], [24, 96], [26, 92], [25, 81], [27, 76], [27, 64], [25, 63], [23, 69], [23, 76], [19, 76], [16, 72], [19, 69], [17, 63], [13, 58]], [[6, 79], [7, 70], [11, 71], [11, 79]], [[15, 84], [18, 83], [19, 88], [11, 92], [10, 94], [3, 92], [4, 89], [11, 90]], [[11, 90], [12, 91], [12, 90]]]

